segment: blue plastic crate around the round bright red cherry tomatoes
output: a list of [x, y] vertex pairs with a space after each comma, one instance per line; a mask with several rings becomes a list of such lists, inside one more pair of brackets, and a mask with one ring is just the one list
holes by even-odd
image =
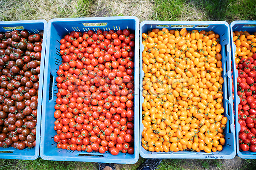
[[[106, 26], [84, 26], [84, 23], [107, 23]], [[47, 33], [47, 55], [44, 74], [44, 96], [41, 128], [40, 156], [45, 160], [58, 161], [87, 161], [87, 162], [108, 162], [119, 164], [134, 164], [139, 159], [139, 88], [135, 88], [134, 96], [134, 154], [119, 153], [113, 156], [111, 153], [87, 153], [86, 151], [72, 151], [57, 149], [53, 137], [56, 131], [53, 129], [55, 118], [54, 105], [58, 88], [55, 78], [62, 59], [56, 49], [60, 47], [60, 40], [71, 31], [96, 31], [119, 30], [129, 28], [135, 34], [134, 51], [134, 83], [139, 87], [139, 20], [137, 17], [95, 17], [95, 18], [65, 18], [49, 21]], [[90, 25], [91, 25], [90, 24]]]

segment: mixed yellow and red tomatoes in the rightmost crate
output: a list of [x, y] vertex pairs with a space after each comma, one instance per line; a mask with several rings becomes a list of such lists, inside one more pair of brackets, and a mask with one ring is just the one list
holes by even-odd
[[[233, 32], [236, 45], [238, 96], [239, 150], [256, 152], [256, 33]], [[234, 96], [233, 96], [234, 97]]]

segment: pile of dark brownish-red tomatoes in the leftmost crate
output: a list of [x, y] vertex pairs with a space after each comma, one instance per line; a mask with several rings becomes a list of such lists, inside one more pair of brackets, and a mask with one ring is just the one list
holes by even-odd
[[0, 33], [0, 147], [35, 147], [43, 31]]

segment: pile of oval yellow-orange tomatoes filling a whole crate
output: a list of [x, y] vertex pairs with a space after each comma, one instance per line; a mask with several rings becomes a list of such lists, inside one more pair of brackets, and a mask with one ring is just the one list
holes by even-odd
[[156, 28], [142, 37], [143, 148], [222, 150], [227, 117], [223, 116], [219, 35]]

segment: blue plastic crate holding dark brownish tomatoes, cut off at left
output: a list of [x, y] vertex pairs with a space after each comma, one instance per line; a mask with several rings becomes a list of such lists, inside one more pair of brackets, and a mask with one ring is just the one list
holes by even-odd
[[[39, 144], [40, 144], [40, 132], [41, 132], [41, 105], [42, 105], [42, 91], [43, 91], [43, 77], [44, 77], [44, 56], [46, 48], [46, 37], [47, 37], [47, 21], [46, 20], [25, 20], [25, 21], [7, 21], [0, 22], [0, 32], [10, 31], [9, 28], [3, 27], [23, 27], [30, 33], [38, 33], [39, 31], [45, 30], [43, 37], [43, 45], [41, 52], [41, 69], [40, 69], [40, 81], [38, 90], [38, 116], [37, 116], [37, 128], [36, 128], [36, 147], [32, 149], [18, 150], [13, 147], [3, 148], [0, 147], [0, 158], [1, 159], [27, 159], [35, 160], [39, 156]], [[21, 29], [17, 29], [21, 30]], [[8, 152], [8, 153], [6, 153]]]

